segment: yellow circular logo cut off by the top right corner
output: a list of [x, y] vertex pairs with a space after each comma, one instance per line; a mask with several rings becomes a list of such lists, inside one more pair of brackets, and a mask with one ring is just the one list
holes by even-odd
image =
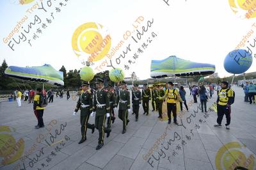
[[256, 17], [256, 1], [228, 0], [231, 10], [241, 19], [252, 19]]

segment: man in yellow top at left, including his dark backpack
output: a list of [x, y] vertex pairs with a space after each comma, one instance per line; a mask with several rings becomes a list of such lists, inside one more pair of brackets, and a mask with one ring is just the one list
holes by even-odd
[[44, 114], [44, 107], [46, 105], [47, 105], [46, 95], [43, 95], [41, 88], [37, 88], [36, 95], [34, 97], [34, 105], [33, 105], [34, 113], [38, 120], [38, 123], [35, 126], [35, 128], [44, 127], [43, 114]]

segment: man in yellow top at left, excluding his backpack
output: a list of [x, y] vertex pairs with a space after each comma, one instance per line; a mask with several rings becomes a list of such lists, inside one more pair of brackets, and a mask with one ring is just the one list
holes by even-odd
[[36, 95], [34, 97], [34, 105], [33, 105], [33, 109], [34, 109], [36, 118], [38, 120], [38, 124], [35, 126], [35, 128], [44, 127], [44, 120], [43, 120], [44, 107], [40, 107], [40, 95], [43, 95], [42, 89], [37, 88]]

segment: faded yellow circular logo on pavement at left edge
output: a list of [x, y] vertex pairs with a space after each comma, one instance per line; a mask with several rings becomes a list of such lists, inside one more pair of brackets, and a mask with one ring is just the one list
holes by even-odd
[[20, 138], [17, 143], [15, 138], [9, 133], [12, 132], [8, 126], [0, 126], [0, 157], [1, 164], [12, 164], [22, 156], [24, 151], [24, 140]]

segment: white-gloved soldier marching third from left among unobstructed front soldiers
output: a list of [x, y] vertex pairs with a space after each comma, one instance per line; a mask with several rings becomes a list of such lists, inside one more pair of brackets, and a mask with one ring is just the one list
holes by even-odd
[[[116, 97], [115, 110], [116, 110], [116, 107], [119, 104], [118, 118], [120, 118], [120, 120], [123, 121], [123, 132], [122, 132], [122, 134], [124, 134], [126, 132], [126, 126], [129, 123], [128, 112], [131, 112], [131, 109], [130, 109], [130, 93], [126, 89], [126, 82], [122, 81], [119, 85], [122, 87], [122, 89], [119, 90], [119, 93]], [[128, 112], [127, 112], [127, 110], [128, 110]]]

